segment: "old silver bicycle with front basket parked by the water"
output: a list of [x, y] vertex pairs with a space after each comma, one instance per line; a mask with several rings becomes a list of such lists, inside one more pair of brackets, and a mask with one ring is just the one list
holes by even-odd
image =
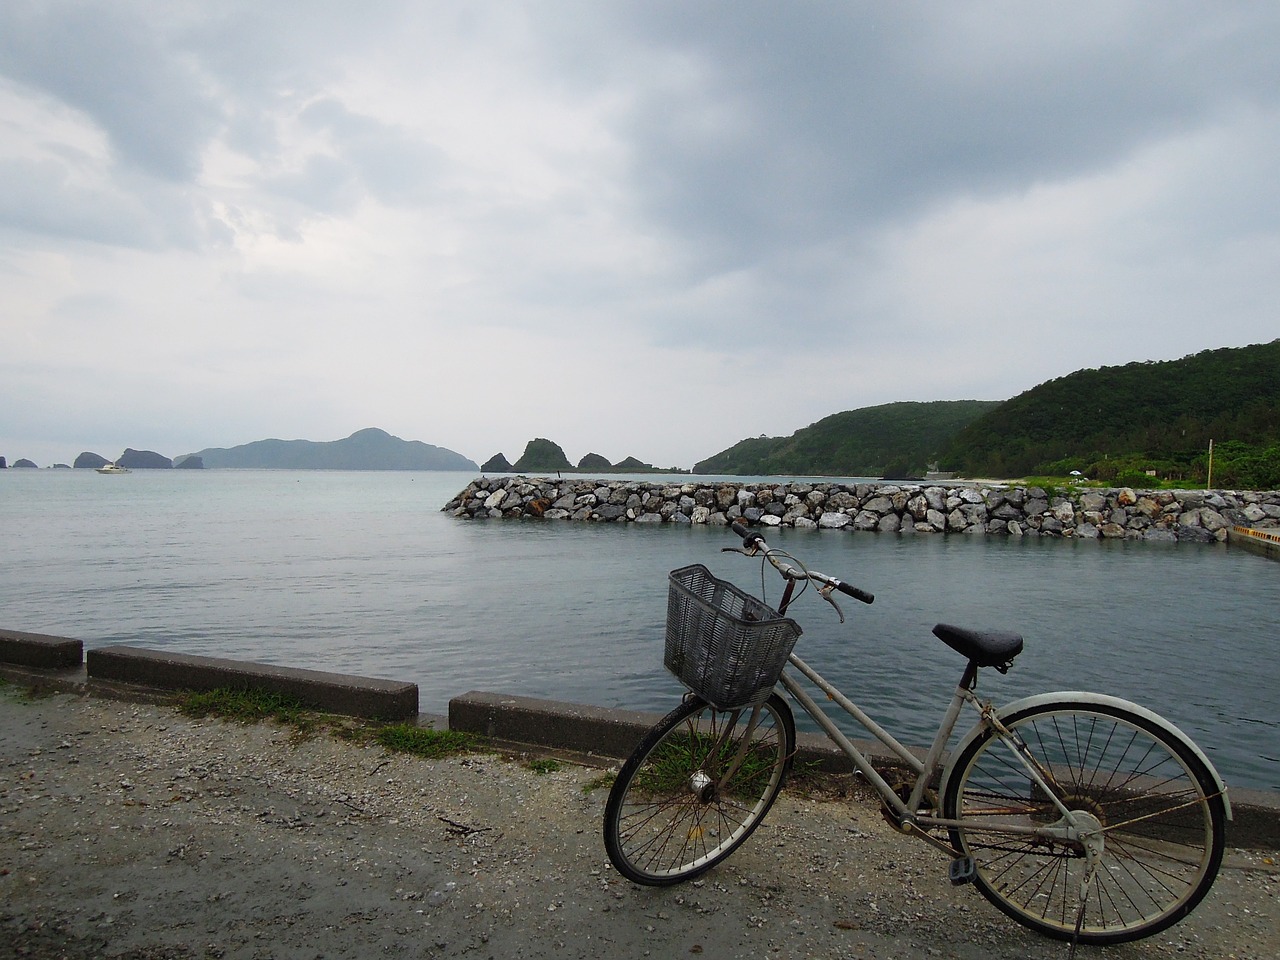
[[[760, 824], [796, 751], [785, 690], [883, 801], [904, 835], [950, 858], [956, 886], [973, 883], [1014, 920], [1073, 943], [1139, 940], [1184, 918], [1222, 859], [1226, 785], [1192, 740], [1126, 700], [1080, 691], [1028, 696], [996, 709], [977, 695], [978, 671], [1007, 672], [1014, 632], [940, 623], [934, 635], [968, 663], [920, 760], [794, 653], [794, 588], [874, 596], [808, 570], [740, 524], [748, 557], [786, 581], [774, 611], [694, 564], [669, 576], [664, 666], [690, 692], [641, 740], [604, 810], [609, 860], [627, 879], [668, 886], [709, 870]], [[786, 668], [792, 668], [787, 671]], [[795, 675], [820, 690], [913, 773], [891, 786]], [[978, 713], [954, 750], [965, 707]]]

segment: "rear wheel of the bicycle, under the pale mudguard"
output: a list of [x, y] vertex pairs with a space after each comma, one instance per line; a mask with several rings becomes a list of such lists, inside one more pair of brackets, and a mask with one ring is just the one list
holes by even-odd
[[1084, 844], [998, 832], [1060, 812], [988, 731], [956, 756], [942, 800], [948, 819], [973, 824], [950, 833], [974, 859], [978, 890], [1019, 923], [1092, 945], [1148, 937], [1190, 913], [1221, 865], [1226, 805], [1183, 736], [1153, 714], [1084, 700], [1041, 703], [1004, 723], [1062, 803], [1097, 818], [1102, 849], [1080, 918]]

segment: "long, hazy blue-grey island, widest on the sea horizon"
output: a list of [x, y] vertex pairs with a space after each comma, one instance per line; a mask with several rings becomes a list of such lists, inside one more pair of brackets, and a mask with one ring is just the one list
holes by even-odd
[[479, 470], [444, 447], [402, 440], [376, 426], [357, 430], [342, 440], [255, 440], [239, 447], [210, 447], [178, 457], [182, 467], [200, 457], [205, 467], [255, 470]]

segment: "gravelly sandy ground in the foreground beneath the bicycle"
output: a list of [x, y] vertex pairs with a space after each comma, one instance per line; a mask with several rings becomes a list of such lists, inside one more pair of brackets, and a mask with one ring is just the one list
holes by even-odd
[[[0, 957], [1053, 957], [856, 800], [785, 794], [703, 879], [621, 879], [600, 771], [420, 760], [0, 686]], [[1277, 856], [1084, 957], [1280, 955]]]

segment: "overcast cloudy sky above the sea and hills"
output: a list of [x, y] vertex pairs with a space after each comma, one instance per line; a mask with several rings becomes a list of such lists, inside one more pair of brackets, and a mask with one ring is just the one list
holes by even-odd
[[1280, 4], [4, 0], [0, 454], [691, 466], [1280, 337]]

